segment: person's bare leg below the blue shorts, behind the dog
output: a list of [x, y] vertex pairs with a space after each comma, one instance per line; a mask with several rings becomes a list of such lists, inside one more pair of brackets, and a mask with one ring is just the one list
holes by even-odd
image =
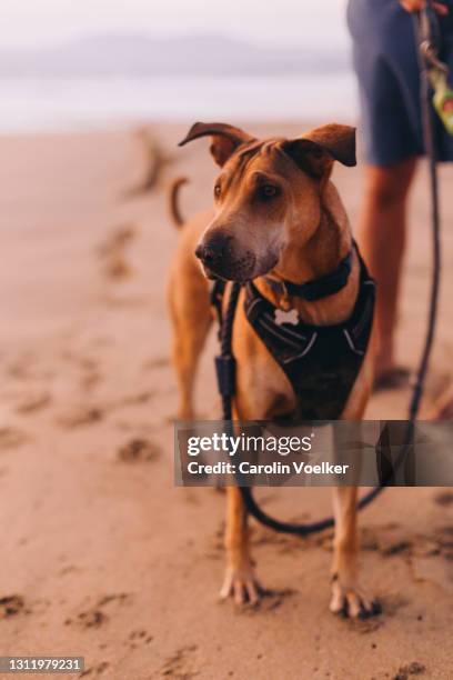
[[394, 330], [406, 234], [407, 193], [416, 158], [387, 167], [365, 168], [365, 191], [359, 221], [359, 243], [378, 283], [379, 349], [375, 382], [395, 371]]

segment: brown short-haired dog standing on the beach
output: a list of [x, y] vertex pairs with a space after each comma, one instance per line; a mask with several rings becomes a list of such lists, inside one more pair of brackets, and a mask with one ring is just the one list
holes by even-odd
[[[271, 277], [302, 283], [323, 277], [334, 271], [351, 250], [349, 221], [330, 174], [334, 160], [355, 164], [353, 128], [330, 124], [293, 140], [258, 141], [231, 126], [197, 123], [181, 143], [204, 136], [211, 137], [211, 153], [222, 168], [214, 186], [214, 210], [183, 227], [169, 286], [179, 417], [183, 420], [193, 418], [195, 368], [213, 318], [207, 277], [253, 280], [276, 308], [295, 309], [301, 319], [316, 326], [340, 323], [351, 316], [360, 278], [359, 258], [353, 251], [346, 284], [319, 301], [282, 296], [269, 281]], [[291, 414], [296, 408], [294, 391], [248, 322], [243, 296], [242, 291], [233, 331], [234, 414], [239, 420]], [[372, 358], [368, 351], [342, 419], [363, 417], [371, 384]], [[330, 608], [351, 617], [378, 612], [376, 603], [363, 593], [358, 581], [356, 496], [356, 488], [334, 490]], [[231, 594], [239, 603], [256, 602], [260, 587], [250, 554], [246, 512], [236, 488], [228, 489], [225, 546], [221, 597]]]

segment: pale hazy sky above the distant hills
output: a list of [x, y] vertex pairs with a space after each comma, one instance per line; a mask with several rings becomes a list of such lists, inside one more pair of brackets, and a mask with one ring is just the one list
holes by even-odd
[[345, 0], [0, 0], [0, 47], [99, 33], [217, 32], [275, 44], [343, 46]]

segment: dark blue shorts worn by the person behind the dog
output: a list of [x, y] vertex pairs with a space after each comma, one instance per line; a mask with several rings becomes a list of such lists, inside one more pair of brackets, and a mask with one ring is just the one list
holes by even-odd
[[[453, 77], [453, 0], [450, 17], [441, 19], [441, 58]], [[392, 166], [421, 156], [420, 69], [410, 13], [399, 0], [350, 0], [348, 24], [353, 40], [354, 70], [359, 79], [361, 132], [365, 160]], [[435, 138], [439, 160], [453, 160], [453, 137], [437, 114]]]

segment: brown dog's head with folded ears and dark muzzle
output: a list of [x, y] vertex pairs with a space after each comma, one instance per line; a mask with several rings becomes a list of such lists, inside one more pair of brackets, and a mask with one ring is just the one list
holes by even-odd
[[195, 251], [210, 278], [254, 279], [273, 269], [290, 243], [303, 246], [320, 222], [333, 162], [355, 164], [355, 129], [349, 126], [260, 141], [232, 126], [199, 122], [180, 146], [207, 136], [222, 168], [215, 217]]

